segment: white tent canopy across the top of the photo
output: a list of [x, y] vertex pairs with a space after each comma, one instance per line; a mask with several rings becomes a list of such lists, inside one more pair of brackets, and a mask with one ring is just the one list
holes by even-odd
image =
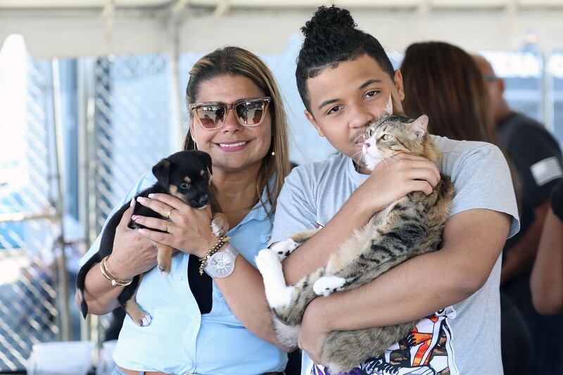
[[23, 34], [36, 58], [210, 51], [234, 44], [281, 51], [315, 8], [349, 8], [388, 49], [443, 40], [469, 51], [533, 42], [563, 50], [563, 0], [2, 0], [0, 41]]

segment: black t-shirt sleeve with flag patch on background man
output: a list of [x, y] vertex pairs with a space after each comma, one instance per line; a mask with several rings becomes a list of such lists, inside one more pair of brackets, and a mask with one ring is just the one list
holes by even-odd
[[522, 199], [531, 208], [548, 200], [550, 191], [563, 177], [562, 154], [557, 141], [545, 129], [518, 127], [507, 147], [522, 187]]

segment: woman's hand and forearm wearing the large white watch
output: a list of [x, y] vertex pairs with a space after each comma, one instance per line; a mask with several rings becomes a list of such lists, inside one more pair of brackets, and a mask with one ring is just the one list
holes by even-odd
[[[142, 201], [142, 202], [141, 202]], [[211, 232], [211, 211], [196, 210], [175, 196], [154, 194], [151, 198], [139, 200], [144, 206], [160, 215], [170, 214], [170, 223], [153, 217], [139, 217], [137, 222], [146, 227], [163, 229], [169, 233], [143, 230], [152, 241], [172, 246], [184, 253], [203, 258], [217, 242]], [[256, 336], [287, 350], [277, 342], [272, 326], [272, 312], [267, 304], [262, 277], [242, 255], [236, 258], [234, 271], [228, 277], [213, 279], [227, 305], [241, 323]]]

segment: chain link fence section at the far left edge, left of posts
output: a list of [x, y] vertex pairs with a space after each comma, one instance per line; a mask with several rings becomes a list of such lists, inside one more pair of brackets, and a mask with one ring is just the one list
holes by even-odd
[[19, 57], [0, 61], [0, 371], [61, 335], [51, 65]]

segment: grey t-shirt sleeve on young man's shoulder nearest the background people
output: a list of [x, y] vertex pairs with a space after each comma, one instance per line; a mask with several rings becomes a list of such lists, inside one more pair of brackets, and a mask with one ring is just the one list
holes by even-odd
[[504, 155], [497, 146], [479, 144], [464, 151], [451, 172], [455, 196], [450, 216], [472, 209], [487, 209], [512, 216], [509, 238], [519, 231], [514, 186]]

